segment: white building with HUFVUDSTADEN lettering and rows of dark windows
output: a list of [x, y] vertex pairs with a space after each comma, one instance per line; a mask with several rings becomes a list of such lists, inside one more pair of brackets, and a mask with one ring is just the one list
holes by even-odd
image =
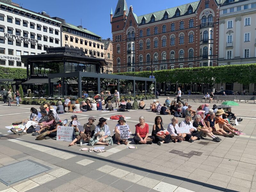
[[36, 13], [0, 1], [0, 66], [27, 68], [21, 55], [36, 55], [61, 46], [61, 22], [46, 12]]

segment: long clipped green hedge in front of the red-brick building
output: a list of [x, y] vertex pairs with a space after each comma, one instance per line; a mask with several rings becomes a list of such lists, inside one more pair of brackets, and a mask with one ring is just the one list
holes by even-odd
[[[218, 67], [175, 68], [153, 71], [158, 83], [256, 83], [256, 63]], [[115, 73], [115, 75], [149, 77], [151, 71]]]

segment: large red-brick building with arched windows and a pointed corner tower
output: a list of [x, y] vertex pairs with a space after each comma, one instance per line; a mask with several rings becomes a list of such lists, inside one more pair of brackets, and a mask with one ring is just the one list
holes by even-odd
[[217, 66], [218, 5], [200, 0], [137, 16], [118, 0], [110, 13], [114, 72]]

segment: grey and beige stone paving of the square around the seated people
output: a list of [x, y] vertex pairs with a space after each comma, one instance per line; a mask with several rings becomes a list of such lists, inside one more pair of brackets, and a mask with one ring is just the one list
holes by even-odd
[[[171, 98], [173, 99], [173, 98]], [[160, 97], [163, 103], [165, 97]], [[152, 100], [151, 100], [152, 102]], [[147, 100], [149, 107], [150, 100]], [[190, 102], [196, 109], [201, 102]], [[210, 104], [212, 107], [214, 103]], [[215, 191], [256, 191], [256, 109], [255, 104], [239, 103], [232, 112], [243, 118], [237, 127], [246, 135], [234, 138], [221, 137], [221, 142], [212, 142], [209, 138], [193, 143], [169, 143], [162, 146], [134, 145], [128, 149], [125, 145], [106, 146], [104, 153], [79, 150], [75, 145], [68, 147], [69, 142], [56, 140], [35, 140], [31, 134], [6, 140], [8, 133], [4, 126], [13, 121], [27, 118], [30, 108], [39, 106], [21, 105], [7, 107], [0, 104], [0, 167], [31, 159], [52, 169], [29, 179], [6, 186], [0, 182], [1, 192], [215, 192]], [[81, 124], [87, 123], [89, 116], [110, 117], [123, 114], [131, 117], [126, 120], [132, 133], [139, 116], [145, 116], [151, 133], [156, 113], [147, 110], [130, 112], [84, 112], [76, 114]], [[70, 119], [72, 113], [61, 114], [61, 120]], [[162, 116], [164, 127], [171, 122], [171, 116]], [[97, 123], [97, 120], [95, 123]], [[182, 118], [179, 118], [181, 122]], [[116, 121], [107, 121], [111, 134]], [[206, 142], [207, 145], [200, 144]], [[133, 145], [132, 139], [128, 146]], [[84, 147], [84, 145], [83, 145]], [[88, 146], [89, 147], [89, 146]], [[170, 153], [176, 150], [189, 154], [190, 158]], [[178, 152], [179, 153], [179, 152]], [[18, 173], [17, 173], [18, 174]]]

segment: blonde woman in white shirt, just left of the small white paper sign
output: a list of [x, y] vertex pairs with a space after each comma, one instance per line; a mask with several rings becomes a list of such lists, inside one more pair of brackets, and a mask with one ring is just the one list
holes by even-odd
[[168, 128], [167, 128], [167, 131], [171, 135], [171, 140], [174, 143], [181, 142], [182, 140], [185, 140], [184, 138], [186, 137], [186, 133], [177, 134], [177, 129], [179, 128], [178, 118], [177, 117], [172, 117], [171, 121], [172, 121], [172, 123], [170, 123], [168, 125]]

